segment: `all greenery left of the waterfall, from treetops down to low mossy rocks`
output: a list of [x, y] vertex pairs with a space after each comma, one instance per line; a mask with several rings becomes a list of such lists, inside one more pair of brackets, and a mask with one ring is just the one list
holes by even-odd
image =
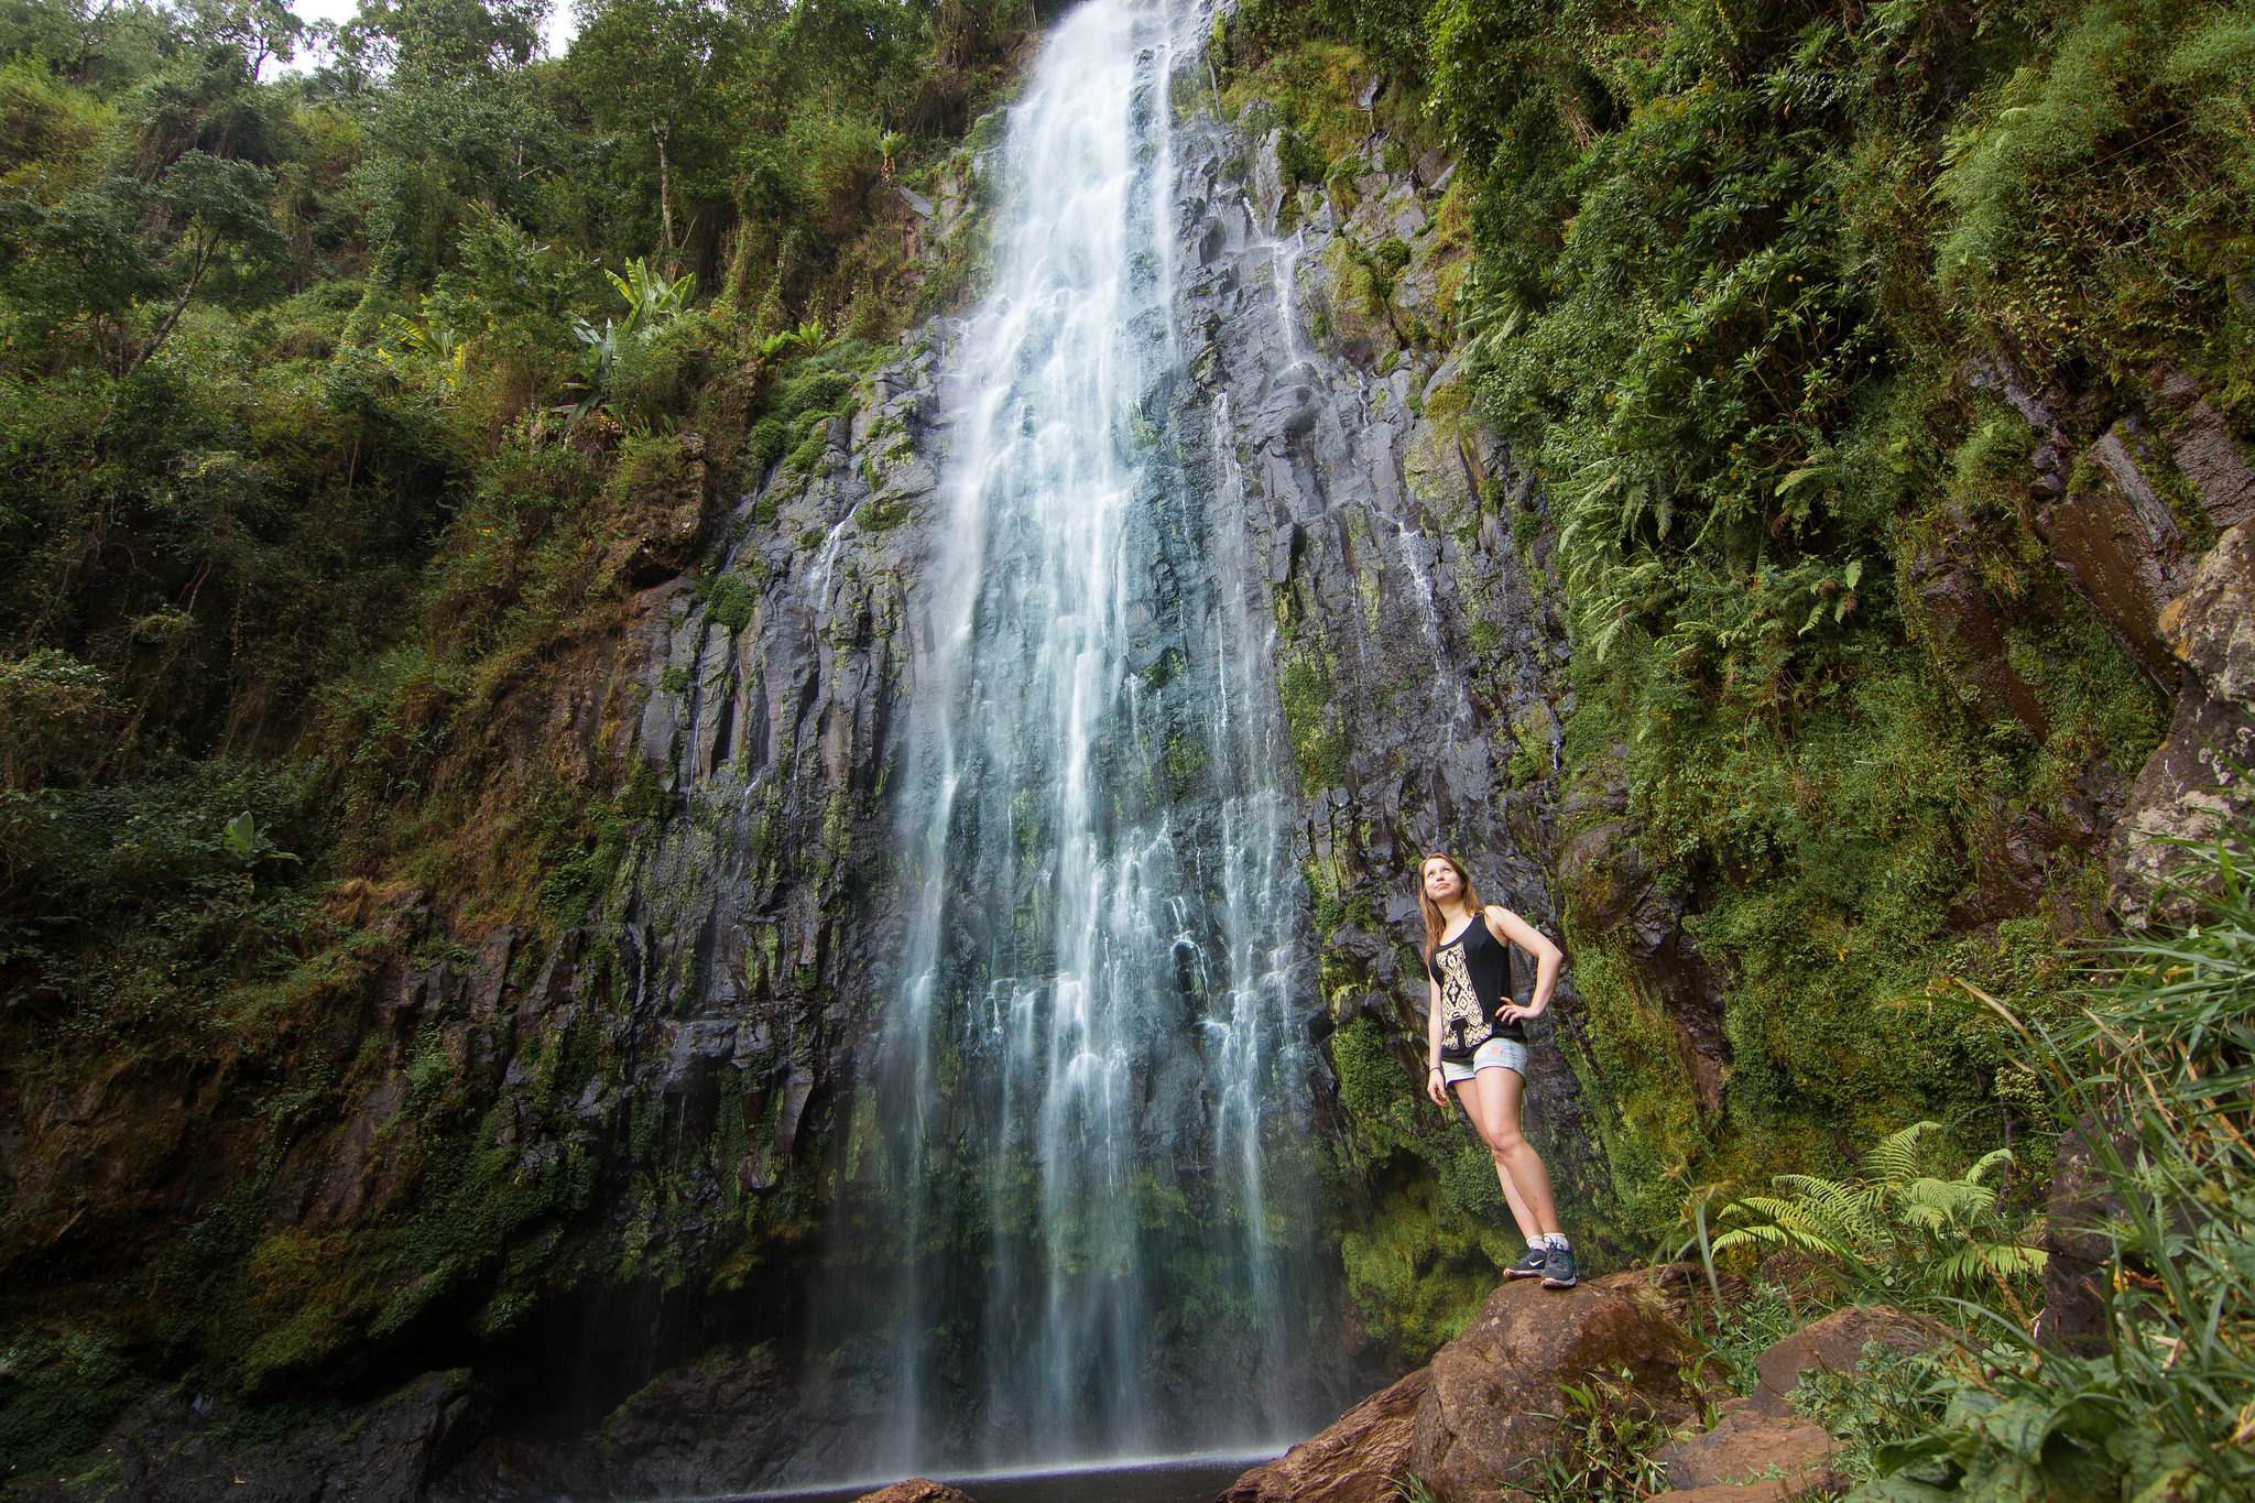
[[0, 5], [0, 1095], [187, 1174], [0, 1199], [9, 1467], [151, 1368], [273, 1393], [503, 1264], [618, 1273], [510, 1262], [589, 1170], [449, 1115], [437, 1039], [413, 1217], [262, 1239], [259, 1194], [381, 1073], [307, 1064], [379, 962], [577, 924], [665, 813], [546, 703], [963, 295], [900, 189], [965, 192], [1037, 16], [593, 0], [548, 59], [543, 9]]

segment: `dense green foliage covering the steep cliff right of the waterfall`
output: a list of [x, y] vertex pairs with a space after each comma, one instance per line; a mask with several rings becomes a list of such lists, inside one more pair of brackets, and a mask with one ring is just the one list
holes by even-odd
[[[1540, 475], [1491, 505], [1572, 622], [1560, 897], [1610, 1230], [1838, 1176], [1921, 1118], [2048, 1167], [2036, 1073], [1935, 987], [2057, 1021], [2093, 813], [2167, 703], [2052, 566], [2043, 435], [2002, 388], [2072, 442], [2167, 421], [2169, 379], [2255, 430], [2244, 7], [1252, 0], [1220, 52], [1281, 101], [1299, 180], [1337, 192], [1371, 124], [1473, 176], [1430, 336]], [[1646, 879], [1682, 910], [1660, 958], [1612, 906]], [[1687, 996], [1727, 1037], [1716, 1086]]]

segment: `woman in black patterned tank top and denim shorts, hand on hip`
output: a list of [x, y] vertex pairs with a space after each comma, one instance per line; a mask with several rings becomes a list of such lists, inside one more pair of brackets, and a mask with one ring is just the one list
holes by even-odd
[[[1527, 1019], [1538, 1019], [1549, 1007], [1565, 951], [1509, 908], [1482, 908], [1454, 856], [1425, 856], [1418, 908], [1425, 913], [1425, 976], [1432, 985], [1425, 1028], [1432, 1070], [1425, 1075], [1425, 1095], [1434, 1106], [1448, 1106], [1448, 1088], [1454, 1086], [1495, 1156], [1495, 1179], [1527, 1237], [1527, 1253], [1511, 1264], [1511, 1278], [1540, 1278], [1545, 1289], [1572, 1289], [1574, 1248], [1558, 1230], [1549, 1172], [1520, 1133]], [[1511, 1000], [1513, 944], [1538, 962], [1536, 994], [1524, 1007]]]

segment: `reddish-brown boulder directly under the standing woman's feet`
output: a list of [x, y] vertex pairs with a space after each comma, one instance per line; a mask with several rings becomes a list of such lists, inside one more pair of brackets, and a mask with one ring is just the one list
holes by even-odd
[[[1416, 1406], [1409, 1471], [1441, 1503], [1488, 1503], [1531, 1483], [1558, 1433], [1558, 1384], [1608, 1377], [1669, 1422], [1689, 1417], [1682, 1336], [1644, 1273], [1578, 1289], [1511, 1282], [1432, 1359]], [[1626, 1377], [1624, 1377], [1626, 1375]]]

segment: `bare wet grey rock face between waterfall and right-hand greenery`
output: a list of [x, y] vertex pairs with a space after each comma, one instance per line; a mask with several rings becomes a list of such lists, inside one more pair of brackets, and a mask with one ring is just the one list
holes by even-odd
[[[1276, 144], [1261, 106], [1184, 126], [1179, 214], [1204, 232], [1179, 322], [1195, 340], [1188, 401], [1206, 415], [1184, 428], [1213, 435], [1206, 484], [1243, 496], [1276, 617], [1315, 888], [1315, 1028], [1373, 1019], [1414, 1091], [1418, 861], [1454, 852], [1484, 901], [1556, 933], [1565, 626], [1542, 541], [1513, 543], [1540, 534], [1515, 518], [1540, 523], [1542, 496], [1468, 412], [1461, 363], [1421, 338], [1461, 275], [1436, 232], [1448, 164], [1400, 164], [1373, 135], [1351, 192], [1330, 194], [1285, 187]], [[1382, 248], [1398, 264], [1380, 284]], [[1515, 955], [1515, 994], [1531, 985]], [[1574, 1068], [1572, 976], [1529, 1034], [1529, 1136], [1588, 1203], [1606, 1167]]]

